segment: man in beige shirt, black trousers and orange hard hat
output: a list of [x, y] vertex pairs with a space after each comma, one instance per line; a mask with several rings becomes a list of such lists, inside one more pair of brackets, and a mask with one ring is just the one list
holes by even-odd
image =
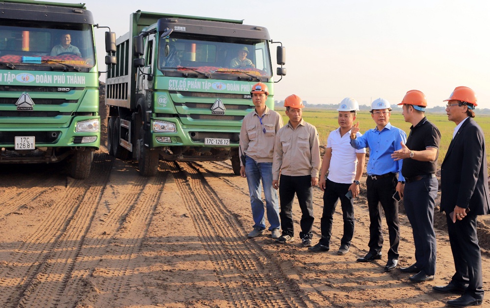
[[[293, 200], [298, 197], [301, 208], [301, 238], [303, 247], [311, 246], [313, 216], [312, 187], [318, 184], [320, 150], [317, 128], [302, 118], [303, 101], [297, 95], [284, 100], [289, 122], [277, 133], [272, 163], [272, 186], [279, 189], [282, 236], [279, 243], [293, 240]], [[279, 173], [281, 185], [279, 185]]]

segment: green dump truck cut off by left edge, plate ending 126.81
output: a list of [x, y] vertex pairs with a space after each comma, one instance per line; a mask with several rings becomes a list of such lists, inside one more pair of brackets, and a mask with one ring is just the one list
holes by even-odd
[[[0, 4], [0, 163], [68, 159], [73, 178], [88, 177], [100, 144], [92, 13], [84, 4]], [[115, 50], [115, 34], [106, 43]]]

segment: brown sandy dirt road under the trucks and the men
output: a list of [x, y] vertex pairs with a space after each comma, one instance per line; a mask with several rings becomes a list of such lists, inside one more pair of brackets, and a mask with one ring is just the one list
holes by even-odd
[[[336, 254], [343, 230], [339, 207], [331, 251], [313, 254], [297, 239], [297, 204], [296, 241], [276, 244], [270, 233], [246, 238], [252, 226], [246, 180], [232, 175], [229, 161], [160, 162], [158, 175], [147, 178], [134, 163], [106, 152], [95, 155], [87, 180], [69, 178], [55, 165], [2, 166], [1, 308], [444, 307], [456, 297], [432, 292], [453, 274], [440, 214], [436, 279], [413, 284], [408, 274], [383, 272], [386, 245], [382, 260], [355, 262], [368, 248], [365, 194], [356, 200], [350, 252]], [[316, 188], [314, 243], [321, 197]], [[400, 265], [407, 266], [414, 246], [404, 213], [400, 220]], [[488, 226], [482, 217], [486, 290]]]

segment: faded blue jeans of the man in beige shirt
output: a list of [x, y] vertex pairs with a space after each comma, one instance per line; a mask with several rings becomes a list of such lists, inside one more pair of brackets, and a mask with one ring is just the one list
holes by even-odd
[[250, 205], [252, 206], [253, 227], [259, 230], [266, 228], [264, 216], [264, 202], [262, 201], [262, 187], [266, 197], [267, 220], [269, 220], [269, 230], [279, 229], [279, 203], [277, 192], [272, 188], [272, 163], [257, 163], [252, 158], [245, 156], [245, 174], [250, 194]]

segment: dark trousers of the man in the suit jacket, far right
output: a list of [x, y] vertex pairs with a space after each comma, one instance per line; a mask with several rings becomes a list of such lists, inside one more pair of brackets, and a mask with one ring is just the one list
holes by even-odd
[[465, 294], [483, 299], [482, 256], [476, 234], [476, 217], [469, 212], [463, 220], [453, 223], [446, 213], [447, 233], [456, 268], [452, 282], [458, 286], [467, 286]]

